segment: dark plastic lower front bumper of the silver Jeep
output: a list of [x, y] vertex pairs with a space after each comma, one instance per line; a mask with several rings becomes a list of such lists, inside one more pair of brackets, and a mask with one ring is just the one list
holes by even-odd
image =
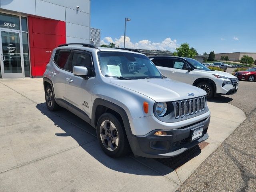
[[[156, 129], [144, 136], [129, 135], [128, 138], [134, 155], [148, 158], [173, 157], [206, 140], [209, 123], [210, 116], [182, 128], [164, 130], [166, 136], [154, 135], [156, 131], [160, 131]], [[191, 142], [192, 130], [198, 128], [203, 128], [202, 136]]]

